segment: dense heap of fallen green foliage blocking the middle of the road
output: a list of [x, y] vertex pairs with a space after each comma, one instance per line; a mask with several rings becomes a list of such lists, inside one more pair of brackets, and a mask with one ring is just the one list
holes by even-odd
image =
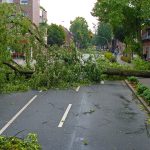
[[80, 53], [63, 48], [52, 53], [51, 62], [45, 60], [45, 66], [37, 66], [30, 80], [32, 88], [64, 88], [100, 81], [100, 69], [92, 60], [82, 64]]

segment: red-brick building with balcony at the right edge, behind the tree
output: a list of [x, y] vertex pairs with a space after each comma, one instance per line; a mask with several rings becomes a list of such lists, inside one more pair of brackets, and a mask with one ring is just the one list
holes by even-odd
[[142, 30], [143, 54], [147, 54], [147, 60], [150, 60], [150, 27]]

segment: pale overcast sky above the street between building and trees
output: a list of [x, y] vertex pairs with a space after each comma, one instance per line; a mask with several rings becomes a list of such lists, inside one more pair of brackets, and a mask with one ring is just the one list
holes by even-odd
[[78, 16], [84, 17], [92, 29], [92, 23], [97, 23], [96, 18], [90, 14], [95, 2], [96, 0], [40, 0], [41, 6], [48, 12], [48, 23], [61, 24], [68, 29], [70, 21]]

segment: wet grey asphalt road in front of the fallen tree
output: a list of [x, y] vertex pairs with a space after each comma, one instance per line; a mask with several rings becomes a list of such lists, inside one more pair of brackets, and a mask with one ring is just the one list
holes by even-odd
[[35, 95], [2, 135], [37, 133], [43, 150], [150, 149], [148, 115], [123, 82], [0, 95], [0, 130]]

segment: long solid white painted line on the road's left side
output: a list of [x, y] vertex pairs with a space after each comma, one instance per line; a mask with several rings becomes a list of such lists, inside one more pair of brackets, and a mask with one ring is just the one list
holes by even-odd
[[35, 95], [12, 119], [0, 130], [0, 135], [21, 115], [21, 113], [36, 99]]

